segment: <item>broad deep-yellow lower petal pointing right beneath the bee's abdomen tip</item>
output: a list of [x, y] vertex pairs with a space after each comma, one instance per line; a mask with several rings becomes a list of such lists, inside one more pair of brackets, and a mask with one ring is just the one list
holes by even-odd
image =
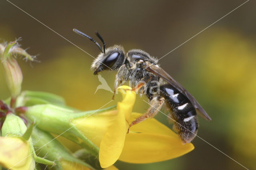
[[119, 160], [129, 163], [152, 163], [182, 156], [194, 149], [176, 137], [162, 134], [129, 133]]

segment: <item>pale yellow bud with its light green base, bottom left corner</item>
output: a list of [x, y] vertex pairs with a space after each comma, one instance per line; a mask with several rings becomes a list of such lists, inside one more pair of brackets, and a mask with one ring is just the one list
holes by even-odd
[[30, 142], [22, 138], [26, 125], [20, 117], [8, 113], [0, 137], [0, 164], [12, 170], [34, 170]]

